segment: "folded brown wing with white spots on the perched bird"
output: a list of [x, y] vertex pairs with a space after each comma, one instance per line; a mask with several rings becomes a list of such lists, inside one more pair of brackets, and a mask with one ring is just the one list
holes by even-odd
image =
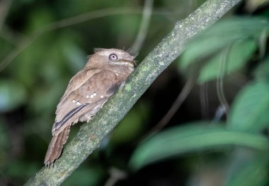
[[120, 86], [118, 76], [111, 71], [89, 69], [76, 74], [57, 105], [52, 134], [59, 134], [88, 112], [94, 115], [118, 86]]

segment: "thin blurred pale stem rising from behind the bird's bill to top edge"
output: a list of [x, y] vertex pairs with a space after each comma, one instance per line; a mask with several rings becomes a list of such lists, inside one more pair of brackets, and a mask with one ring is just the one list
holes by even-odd
[[152, 14], [153, 4], [154, 4], [154, 0], [146, 0], [144, 3], [143, 17], [142, 17], [141, 25], [139, 28], [139, 32], [130, 50], [133, 54], [141, 50], [144, 40], [146, 39], [148, 28], [149, 28], [149, 23], [150, 23], [150, 18]]

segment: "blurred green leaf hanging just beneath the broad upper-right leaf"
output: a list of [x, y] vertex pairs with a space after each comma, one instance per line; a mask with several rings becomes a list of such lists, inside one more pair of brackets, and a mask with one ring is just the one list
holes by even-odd
[[199, 83], [217, 79], [217, 76], [222, 74], [222, 66], [224, 66], [224, 74], [230, 74], [240, 69], [248, 62], [248, 59], [252, 56], [253, 52], [255, 52], [256, 47], [257, 45], [254, 40], [244, 40], [235, 42], [231, 47], [222, 50], [222, 52], [217, 54], [217, 56], [213, 57], [213, 59], [202, 67], [198, 79]]

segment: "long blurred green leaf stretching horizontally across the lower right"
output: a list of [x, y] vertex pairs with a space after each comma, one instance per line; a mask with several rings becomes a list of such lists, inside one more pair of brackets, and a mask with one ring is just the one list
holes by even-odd
[[268, 139], [258, 134], [227, 130], [221, 125], [198, 122], [185, 127], [173, 127], [144, 141], [132, 154], [130, 167], [143, 166], [166, 158], [217, 149], [222, 146], [246, 146], [257, 150], [268, 150]]

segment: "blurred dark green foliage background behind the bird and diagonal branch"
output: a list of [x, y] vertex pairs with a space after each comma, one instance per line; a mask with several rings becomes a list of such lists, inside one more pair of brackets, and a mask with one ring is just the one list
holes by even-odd
[[[0, 185], [42, 168], [59, 98], [94, 47], [139, 64], [203, 2], [1, 0]], [[62, 185], [268, 185], [268, 18], [266, 1], [243, 1], [195, 37]]]

